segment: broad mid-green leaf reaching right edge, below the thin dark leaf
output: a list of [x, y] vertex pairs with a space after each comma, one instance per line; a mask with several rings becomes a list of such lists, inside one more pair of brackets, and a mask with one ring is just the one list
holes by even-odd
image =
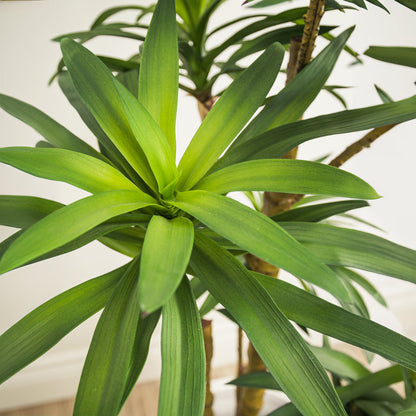
[[280, 225], [326, 264], [355, 267], [416, 283], [416, 251], [363, 231], [329, 224]]

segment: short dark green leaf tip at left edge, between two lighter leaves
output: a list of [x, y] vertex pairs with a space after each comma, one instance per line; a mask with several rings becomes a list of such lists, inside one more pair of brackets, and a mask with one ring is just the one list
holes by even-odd
[[35, 196], [0, 195], [0, 224], [26, 228], [63, 204]]

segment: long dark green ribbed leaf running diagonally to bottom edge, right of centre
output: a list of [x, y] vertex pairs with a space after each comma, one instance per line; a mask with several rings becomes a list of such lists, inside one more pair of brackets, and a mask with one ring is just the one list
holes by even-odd
[[346, 414], [305, 341], [244, 265], [196, 234], [191, 266], [238, 321], [268, 370], [305, 416]]

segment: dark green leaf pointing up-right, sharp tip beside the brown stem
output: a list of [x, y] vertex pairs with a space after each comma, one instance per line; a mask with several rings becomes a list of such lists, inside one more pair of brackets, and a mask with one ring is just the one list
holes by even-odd
[[231, 148], [273, 127], [298, 120], [325, 85], [352, 31], [353, 28], [339, 35], [269, 101]]

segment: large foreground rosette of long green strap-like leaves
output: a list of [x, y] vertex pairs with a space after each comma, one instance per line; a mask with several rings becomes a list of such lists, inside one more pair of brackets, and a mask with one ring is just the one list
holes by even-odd
[[[205, 291], [243, 328], [267, 366], [269, 382], [290, 398], [292, 404], [276, 414], [346, 415], [344, 404], [356, 398], [346, 400], [335, 390], [324, 369], [329, 366], [325, 355], [311, 349], [290, 321], [415, 371], [413, 341], [349, 311], [356, 303], [349, 283], [355, 275], [345, 267], [414, 282], [416, 253], [369, 233], [317, 223], [364, 206], [363, 200], [378, 194], [362, 179], [335, 167], [281, 159], [313, 138], [416, 118], [413, 96], [298, 121], [324, 86], [351, 32], [331, 41], [267, 101], [284, 55], [280, 44], [268, 46], [221, 94], [178, 166], [179, 53], [172, 0], [160, 0], [154, 10], [135, 83], [131, 77], [115, 78], [79, 43], [61, 41], [67, 71], [60, 75], [61, 87], [96, 135], [100, 151], [29, 104], [1, 95], [0, 106], [45, 141], [34, 148], [3, 148], [0, 161], [67, 182], [91, 196], [67, 206], [32, 196], [2, 196], [2, 224], [21, 230], [1, 243], [0, 272], [93, 240], [131, 261], [58, 295], [2, 334], [0, 380], [103, 309], [74, 414], [116, 415], [140, 375], [162, 316], [159, 415], [202, 415], [205, 353], [195, 298]], [[227, 197], [232, 191], [354, 200], [305, 206], [268, 218]], [[244, 253], [326, 290], [342, 307], [249, 271], [238, 258]], [[411, 380], [412, 373], [406, 373], [409, 401], [402, 408], [412, 404]]]

